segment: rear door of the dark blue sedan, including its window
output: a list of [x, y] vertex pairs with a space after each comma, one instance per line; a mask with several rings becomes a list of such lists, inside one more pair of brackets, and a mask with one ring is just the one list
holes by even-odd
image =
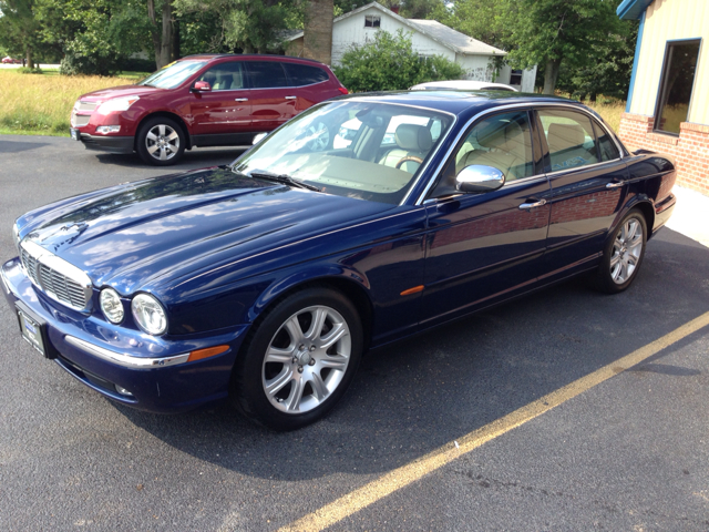
[[587, 268], [600, 255], [621, 208], [627, 168], [605, 129], [568, 108], [536, 112], [552, 208], [545, 276]]

